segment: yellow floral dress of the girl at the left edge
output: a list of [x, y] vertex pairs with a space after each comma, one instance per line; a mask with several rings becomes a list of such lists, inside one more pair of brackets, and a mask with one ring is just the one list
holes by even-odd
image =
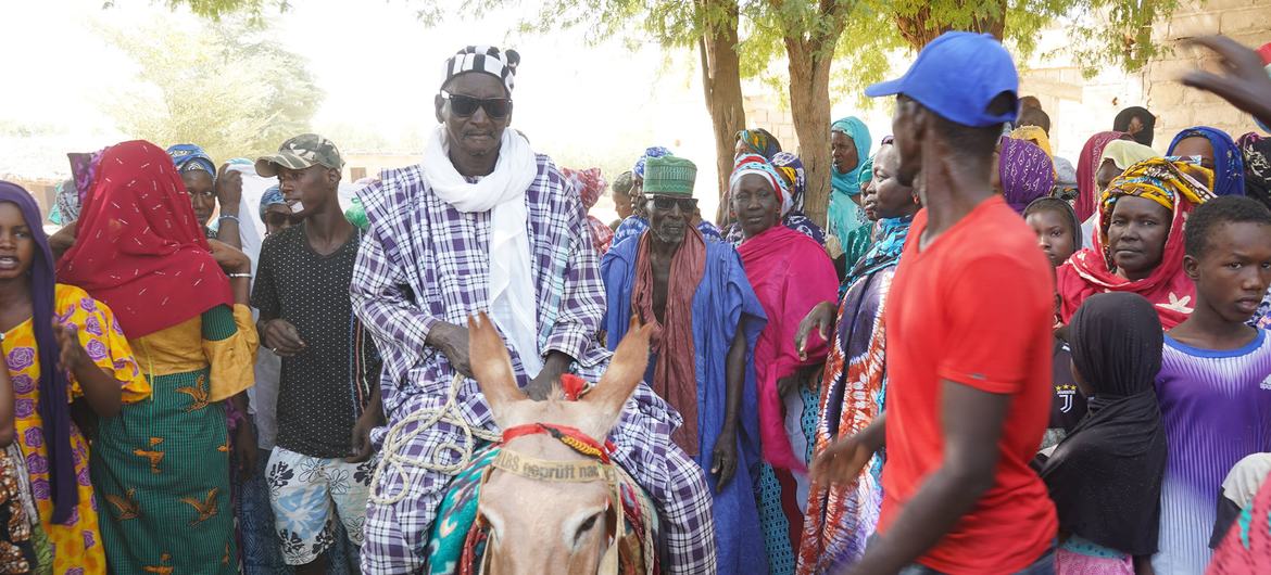
[[[79, 327], [80, 345], [89, 358], [123, 385], [123, 401], [149, 396], [150, 386], [132, 358], [123, 331], [111, 310], [83, 289], [57, 284], [55, 310], [60, 321]], [[39, 353], [31, 320], [4, 334], [4, 354], [14, 387], [17, 440], [27, 454], [31, 491], [39, 510], [39, 522], [53, 547], [53, 572], [62, 575], [104, 574], [105, 555], [98, 528], [98, 509], [89, 481], [88, 442], [71, 421], [71, 453], [79, 481], [79, 506], [67, 524], [52, 522], [53, 501], [48, 482], [48, 447], [44, 444], [43, 421], [39, 418]], [[71, 377], [70, 399], [81, 396], [79, 382]]]

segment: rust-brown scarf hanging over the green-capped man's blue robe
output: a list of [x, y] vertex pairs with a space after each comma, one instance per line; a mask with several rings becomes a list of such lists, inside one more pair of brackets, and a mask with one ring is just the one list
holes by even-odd
[[641, 321], [652, 324], [652, 352], [657, 354], [653, 381], [657, 395], [671, 404], [684, 424], [671, 432], [671, 440], [690, 457], [698, 454], [698, 354], [693, 345], [693, 294], [707, 273], [707, 244], [702, 232], [688, 226], [684, 241], [671, 258], [671, 277], [666, 286], [665, 321], [653, 314], [653, 263], [649, 259], [652, 231], [641, 236], [636, 251], [636, 287], [632, 307]]

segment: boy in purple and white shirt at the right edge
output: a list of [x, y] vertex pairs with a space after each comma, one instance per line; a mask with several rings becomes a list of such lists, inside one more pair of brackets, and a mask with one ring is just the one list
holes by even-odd
[[1157, 575], [1205, 571], [1223, 477], [1271, 451], [1271, 338], [1246, 325], [1271, 284], [1271, 212], [1221, 197], [1196, 208], [1186, 230], [1196, 308], [1166, 334], [1157, 377], [1169, 444]]

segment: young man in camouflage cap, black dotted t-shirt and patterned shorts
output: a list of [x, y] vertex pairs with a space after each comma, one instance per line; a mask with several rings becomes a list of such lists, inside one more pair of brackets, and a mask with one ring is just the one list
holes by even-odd
[[383, 420], [377, 355], [348, 298], [361, 232], [339, 208], [343, 166], [336, 145], [311, 133], [255, 162], [258, 174], [278, 178], [300, 220], [264, 240], [252, 291], [262, 343], [282, 357], [266, 473], [282, 556], [297, 574], [327, 572], [337, 519], [362, 543], [369, 434]]

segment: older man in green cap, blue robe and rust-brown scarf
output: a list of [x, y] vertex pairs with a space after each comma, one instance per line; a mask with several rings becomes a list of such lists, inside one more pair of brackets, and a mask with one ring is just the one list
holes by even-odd
[[719, 572], [768, 572], [751, 476], [760, 462], [755, 369], [746, 360], [766, 320], [737, 251], [693, 225], [695, 178], [689, 160], [648, 159], [649, 227], [600, 263], [604, 329], [615, 349], [633, 311], [655, 325], [644, 381], [683, 418], [671, 439], [707, 471]]

